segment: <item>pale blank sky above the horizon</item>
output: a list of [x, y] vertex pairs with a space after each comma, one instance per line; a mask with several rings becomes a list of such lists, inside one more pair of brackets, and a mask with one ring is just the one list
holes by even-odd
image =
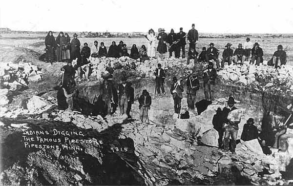
[[0, 27], [26, 31], [293, 33], [293, 0], [2, 0]]

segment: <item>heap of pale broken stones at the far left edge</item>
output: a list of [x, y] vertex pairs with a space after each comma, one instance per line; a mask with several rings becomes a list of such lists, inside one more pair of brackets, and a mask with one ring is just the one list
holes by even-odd
[[27, 88], [29, 81], [41, 81], [42, 74], [38, 66], [31, 62], [1, 62], [0, 105], [9, 103], [9, 95]]

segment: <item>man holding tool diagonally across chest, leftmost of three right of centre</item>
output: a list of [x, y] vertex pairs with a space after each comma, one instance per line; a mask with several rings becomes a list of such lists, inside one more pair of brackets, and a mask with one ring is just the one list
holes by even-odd
[[170, 93], [172, 94], [174, 100], [174, 110], [175, 113], [180, 114], [181, 109], [181, 99], [182, 92], [184, 91], [183, 85], [181, 84], [181, 80], [177, 80], [176, 77], [173, 77], [173, 83], [170, 88]]

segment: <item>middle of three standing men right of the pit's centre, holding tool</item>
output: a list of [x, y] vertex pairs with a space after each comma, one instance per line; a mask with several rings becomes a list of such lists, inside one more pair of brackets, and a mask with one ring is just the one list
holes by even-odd
[[195, 72], [192, 74], [192, 70], [188, 70], [188, 78], [186, 79], [186, 85], [187, 85], [187, 105], [188, 108], [191, 110], [194, 110], [194, 103], [195, 103], [195, 97], [196, 97], [196, 91], [199, 90], [199, 81], [197, 79], [197, 75]]

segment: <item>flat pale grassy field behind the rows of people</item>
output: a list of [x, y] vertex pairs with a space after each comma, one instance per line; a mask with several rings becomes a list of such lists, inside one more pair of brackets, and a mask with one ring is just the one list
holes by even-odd
[[[40, 54], [44, 52], [44, 37], [38, 34], [3, 34], [1, 35], [0, 46], [14, 46], [14, 47], [24, 47], [34, 50]], [[56, 36], [55, 36], [56, 37]], [[87, 42], [89, 47], [93, 45], [93, 42], [96, 40], [100, 43], [103, 41], [105, 46], [109, 47], [112, 41], [116, 41], [116, 44], [119, 41], [124, 41], [127, 44], [127, 48], [130, 52], [130, 48], [132, 44], [136, 44], [138, 48], [141, 45], [147, 45], [146, 39], [144, 38], [79, 38], [82, 45], [84, 42]], [[289, 64], [293, 64], [293, 38], [251, 38], [251, 41], [258, 42], [260, 47], [263, 48], [264, 51], [264, 59], [270, 60], [272, 58], [272, 54], [277, 49], [278, 44], [282, 44], [283, 48], [286, 49], [287, 52], [287, 62]], [[224, 46], [227, 42], [232, 44], [231, 48], [235, 50], [238, 46], [238, 43], [244, 43], [245, 38], [237, 38], [237, 39], [199, 39], [197, 44], [197, 51], [200, 52], [202, 47], [209, 47], [209, 43], [213, 42], [215, 47], [220, 50], [220, 57], [222, 57], [222, 52], [224, 50]], [[186, 45], [186, 50], [188, 50], [188, 45]]]

